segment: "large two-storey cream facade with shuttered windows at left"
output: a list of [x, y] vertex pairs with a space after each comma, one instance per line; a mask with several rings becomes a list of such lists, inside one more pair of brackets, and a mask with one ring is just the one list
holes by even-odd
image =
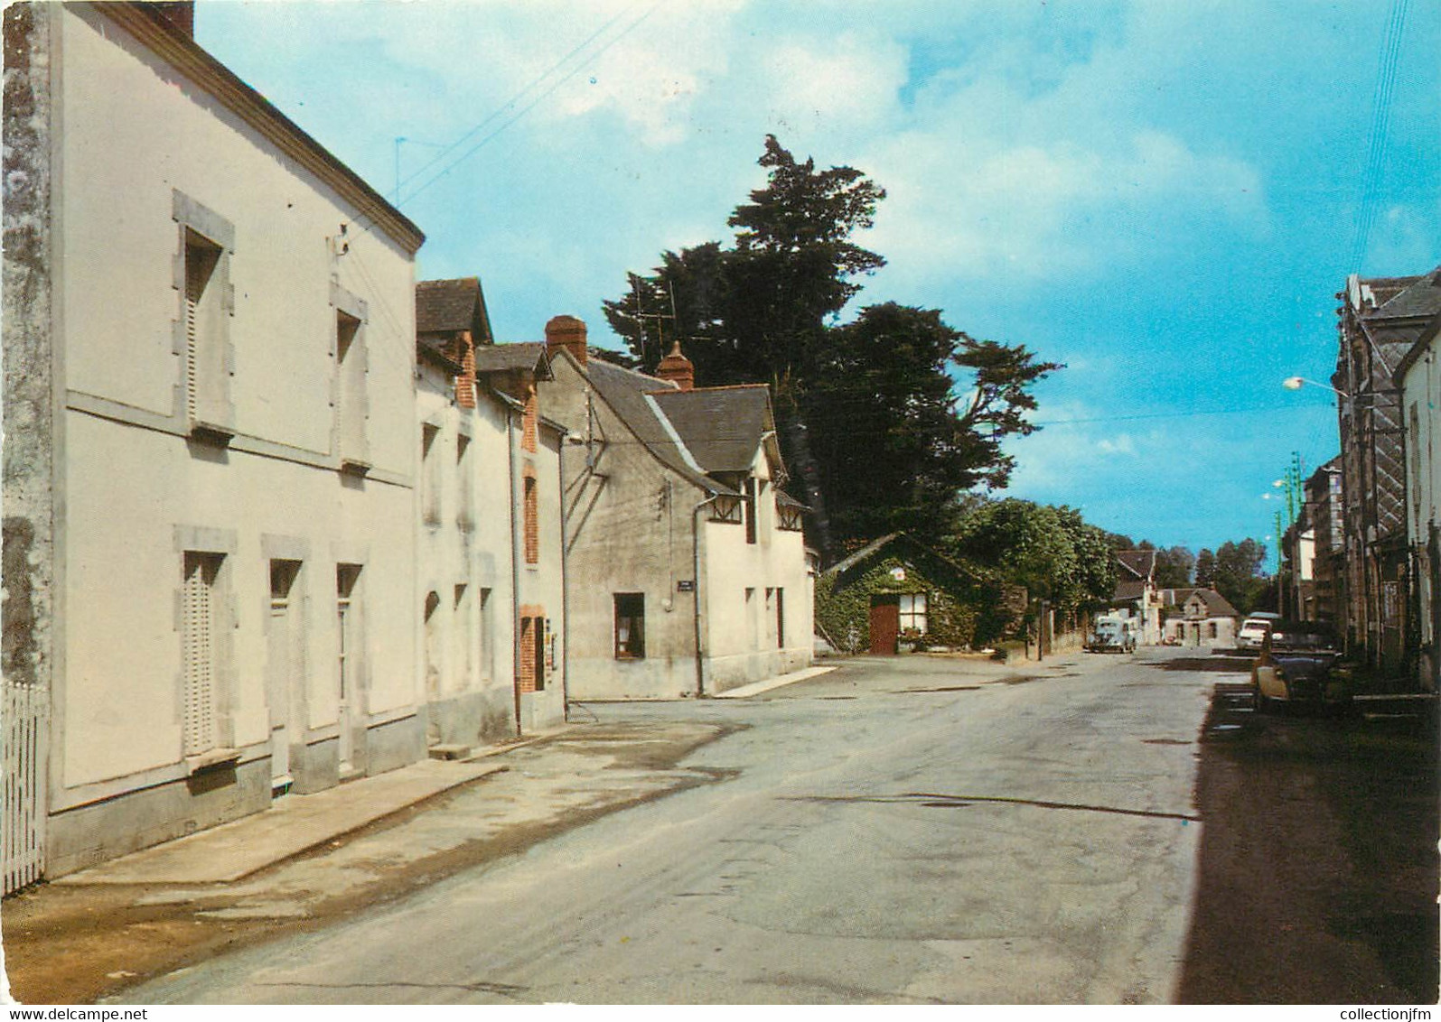
[[59, 875], [424, 756], [422, 236], [151, 13], [36, 10]]

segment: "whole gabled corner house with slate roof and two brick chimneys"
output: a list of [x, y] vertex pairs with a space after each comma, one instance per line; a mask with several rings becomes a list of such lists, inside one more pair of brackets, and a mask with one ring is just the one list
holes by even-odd
[[765, 386], [696, 387], [679, 347], [656, 376], [546, 324], [546, 413], [565, 446], [571, 697], [713, 695], [810, 662], [803, 508]]

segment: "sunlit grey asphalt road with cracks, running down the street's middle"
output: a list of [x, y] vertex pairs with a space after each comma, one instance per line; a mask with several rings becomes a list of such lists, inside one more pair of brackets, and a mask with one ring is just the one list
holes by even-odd
[[849, 661], [745, 701], [716, 783], [134, 1002], [1156, 1003], [1182, 979], [1215, 674], [1173, 656]]

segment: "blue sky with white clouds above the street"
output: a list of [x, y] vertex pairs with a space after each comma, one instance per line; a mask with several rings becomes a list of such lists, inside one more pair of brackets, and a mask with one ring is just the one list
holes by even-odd
[[1334, 292], [1441, 263], [1434, 3], [202, 0], [196, 36], [388, 196], [406, 138], [419, 275], [481, 276], [501, 341], [614, 344], [601, 301], [729, 239], [767, 132], [863, 170], [863, 302], [1068, 364], [1009, 492], [1161, 546], [1272, 531], [1291, 452], [1337, 451], [1280, 387], [1329, 379]]

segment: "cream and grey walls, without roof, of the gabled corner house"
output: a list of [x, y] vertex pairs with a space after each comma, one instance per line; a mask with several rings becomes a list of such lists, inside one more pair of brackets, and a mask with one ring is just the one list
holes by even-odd
[[[582, 367], [555, 345], [550, 364], [555, 379], [542, 384], [542, 397], [571, 435], [563, 452], [571, 698], [713, 695], [810, 664], [813, 577], [801, 531], [780, 528], [769, 487], [774, 442], [757, 435], [749, 469], [762, 489], [748, 543], [739, 489], [693, 459], [689, 468], [677, 461], [684, 443], [673, 432], [660, 439], [659, 420], [656, 436], [643, 440], [634, 426], [640, 404], [623, 415], [592, 376], [604, 373], [612, 397], [628, 389], [635, 402], [673, 384], [595, 360]], [[663, 445], [669, 461], [657, 453]], [[729, 501], [733, 521], [718, 520], [718, 501]], [[638, 648], [633, 628], [643, 636]]]

